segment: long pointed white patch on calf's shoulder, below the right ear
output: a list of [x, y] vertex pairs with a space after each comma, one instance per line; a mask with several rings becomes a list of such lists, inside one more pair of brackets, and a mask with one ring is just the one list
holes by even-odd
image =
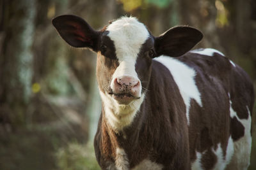
[[177, 83], [180, 94], [186, 104], [186, 117], [189, 125], [190, 100], [195, 99], [195, 101], [202, 107], [200, 92], [195, 83], [195, 70], [177, 59], [164, 55], [157, 57], [154, 60], [157, 60], [166, 66]]

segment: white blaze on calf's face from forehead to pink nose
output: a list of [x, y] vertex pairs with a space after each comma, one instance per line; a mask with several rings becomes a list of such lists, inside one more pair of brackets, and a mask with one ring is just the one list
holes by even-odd
[[141, 45], [145, 43], [149, 33], [145, 25], [134, 17], [122, 17], [112, 22], [106, 31], [109, 31], [108, 36], [114, 42], [119, 62], [119, 66], [112, 76], [110, 87], [113, 88], [113, 81], [117, 77], [133, 76], [138, 78], [135, 71], [136, 59]]

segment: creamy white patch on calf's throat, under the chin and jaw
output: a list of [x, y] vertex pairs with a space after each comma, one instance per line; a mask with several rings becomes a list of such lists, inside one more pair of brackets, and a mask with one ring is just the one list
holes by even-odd
[[104, 111], [109, 125], [114, 131], [118, 132], [132, 123], [136, 113], [140, 110], [145, 94], [142, 94], [140, 99], [136, 99], [127, 105], [118, 104], [109, 94], [101, 91], [100, 97], [104, 103]]

